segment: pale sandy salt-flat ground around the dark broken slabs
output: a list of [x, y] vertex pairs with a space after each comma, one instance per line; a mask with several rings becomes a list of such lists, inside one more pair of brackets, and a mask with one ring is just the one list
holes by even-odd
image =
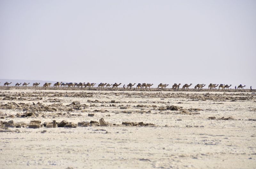
[[[255, 168], [256, 96], [225, 92], [1, 88], [2, 122], [67, 120], [77, 124], [104, 118], [112, 125], [2, 127], [0, 168]], [[40, 102], [56, 111], [40, 109], [35, 116], [18, 117], [17, 113], [26, 111], [8, 108], [11, 102]], [[82, 109], [67, 110], [72, 102], [80, 102]], [[169, 105], [180, 110], [161, 109]], [[210, 120], [210, 116], [233, 119]], [[122, 122], [155, 125], [125, 126]]]

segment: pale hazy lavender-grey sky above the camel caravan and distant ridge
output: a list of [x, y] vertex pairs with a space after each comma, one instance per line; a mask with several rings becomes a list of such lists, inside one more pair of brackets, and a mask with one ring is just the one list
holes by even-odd
[[0, 79], [256, 87], [256, 1], [0, 1]]

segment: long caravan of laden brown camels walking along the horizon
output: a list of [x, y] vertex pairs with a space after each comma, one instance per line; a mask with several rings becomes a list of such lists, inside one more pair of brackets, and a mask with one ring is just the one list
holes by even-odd
[[[11, 82], [12, 83], [12, 82]], [[11, 84], [11, 83], [8, 83], [8, 82], [5, 82], [4, 83], [4, 86], [8, 86], [9, 84]], [[30, 83], [26, 83], [26, 82], [24, 82], [23, 84], [22, 84], [22, 86], [25, 86], [25, 87], [27, 87], [27, 85], [29, 85]], [[81, 87], [81, 88], [93, 88], [94, 87], [94, 85], [95, 85], [96, 83], [89, 83], [89, 82], [87, 82], [87, 83], [82, 83], [82, 82], [80, 82], [80, 83], [63, 83], [63, 82], [56, 82], [56, 83], [54, 83], [53, 84], [53, 88], [60, 88], [60, 87], [64, 87], [64, 88], [71, 88], [71, 87], [73, 87], [73, 88], [75, 88], [75, 87], [77, 87], [77, 88], [79, 88], [79, 87]], [[114, 84], [107, 84], [107, 83], [100, 83], [99, 85], [98, 85], [98, 88], [110, 88], [110, 86], [112, 86], [112, 88], [118, 88], [118, 86], [120, 86], [122, 83], [119, 83], [119, 84], [117, 84], [117, 83], [114, 83]], [[129, 83], [127, 86], [123, 86], [123, 88], [132, 88], [134, 85], [135, 85], [136, 83]], [[21, 85], [21, 83], [16, 83], [15, 84], [15, 87], [19, 87]], [[40, 83], [33, 83], [33, 87], [38, 87], [40, 85]], [[44, 83], [44, 85], [43, 85], [43, 88], [47, 88], [47, 87], [50, 87], [52, 85], [52, 83]], [[138, 83], [138, 85], [136, 86], [136, 89], [137, 88], [150, 88], [151, 86], [152, 86], [153, 84], [150, 84], [150, 83]], [[188, 89], [190, 86], [191, 86], [192, 84], [190, 83], [189, 85], [188, 84], [185, 84], [185, 85], [183, 85], [182, 86], [182, 89]], [[157, 89], [159, 89], [159, 88], [166, 88], [167, 86], [169, 86], [169, 84], [163, 84], [163, 83], [160, 83], [158, 86], [157, 86]], [[197, 84], [196, 86], [195, 86], [195, 89], [203, 89], [203, 87], [204, 86], [206, 86], [205, 84]], [[219, 89], [220, 88], [222, 88], [223, 90], [224, 89], [229, 89], [229, 87], [230, 86], [232, 86], [232, 85], [225, 85], [225, 84], [212, 84], [212, 83], [210, 83], [209, 84], [209, 86], [208, 86], [208, 89], [216, 89], [217, 87], [219, 87]], [[245, 85], [243, 86], [243, 85], [239, 85], [238, 87], [237, 87], [237, 89], [243, 89], [245, 87]], [[174, 83], [174, 85], [172, 85], [172, 89], [180, 89], [180, 83], [179, 84], [177, 84], [177, 83]]]

